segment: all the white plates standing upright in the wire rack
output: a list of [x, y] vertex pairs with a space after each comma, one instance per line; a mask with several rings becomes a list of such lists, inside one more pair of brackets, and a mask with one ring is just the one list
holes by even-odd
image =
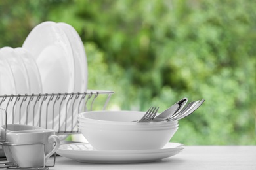
[[[22, 47], [0, 48], [0, 95], [17, 94], [39, 94], [39, 93], [71, 93], [85, 92], [87, 90], [87, 58], [83, 42], [77, 31], [68, 24], [56, 22], [43, 22], [37, 25]], [[25, 124], [26, 107], [19, 107], [21, 101], [16, 103], [14, 114], [12, 115], [13, 101], [8, 108], [2, 103], [1, 108], [7, 110], [7, 124]], [[28, 102], [28, 101], [24, 101]], [[33, 101], [35, 102], [35, 100]], [[24, 103], [23, 103], [24, 105]], [[33, 105], [33, 103], [30, 103]], [[49, 105], [53, 105], [51, 102]], [[65, 105], [63, 105], [65, 106]], [[50, 108], [51, 106], [49, 106]], [[77, 108], [77, 107], [74, 107]], [[33, 109], [32, 107], [30, 109]], [[33, 110], [28, 113], [28, 124], [34, 126], [39, 124], [39, 107], [32, 116]], [[42, 107], [41, 113], [46, 112], [46, 107]], [[65, 109], [61, 109], [64, 112]], [[66, 128], [71, 129], [71, 108], [68, 109]], [[41, 122], [47, 122], [48, 127], [56, 131], [64, 130], [63, 120], [59, 120], [58, 114], [53, 115], [53, 110], [48, 110], [48, 116], [41, 116]], [[5, 116], [1, 115], [1, 124]], [[41, 127], [46, 127], [41, 124]]]

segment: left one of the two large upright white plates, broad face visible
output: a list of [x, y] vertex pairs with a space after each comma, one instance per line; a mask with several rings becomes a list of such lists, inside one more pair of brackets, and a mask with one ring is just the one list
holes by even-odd
[[[37, 25], [30, 32], [22, 47], [35, 57], [41, 75], [43, 93], [74, 92], [75, 66], [72, 48], [68, 37], [62, 29], [56, 26], [55, 22], [43, 22]], [[62, 103], [62, 108], [60, 108], [62, 115], [66, 114], [64, 107], [66, 101]], [[47, 102], [44, 102], [39, 126], [59, 131], [58, 118], [60, 114], [56, 114], [59, 112], [59, 107], [55, 107], [56, 110], [53, 112], [52, 109], [46, 110], [46, 105]], [[56, 103], [55, 106], [58, 105], [60, 103]], [[53, 108], [53, 102], [49, 103], [48, 108]], [[63, 117], [61, 117], [60, 124], [64, 121]]]

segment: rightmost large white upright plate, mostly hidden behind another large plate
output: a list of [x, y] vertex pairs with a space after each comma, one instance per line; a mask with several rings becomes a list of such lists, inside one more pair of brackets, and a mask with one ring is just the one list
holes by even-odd
[[[74, 27], [72, 27], [69, 24], [66, 23], [57, 23], [58, 27], [62, 29], [70, 41], [70, 44], [72, 46], [72, 52], [74, 56], [74, 62], [75, 62], [75, 86], [74, 86], [74, 92], [85, 92], [87, 90], [87, 77], [88, 77], [88, 71], [87, 71], [87, 58], [85, 54], [85, 48], [83, 46], [83, 41], [81, 41], [81, 38], [77, 31], [75, 31]], [[72, 101], [70, 103], [74, 103], [75, 97], [73, 97]], [[70, 105], [70, 108], [68, 109], [68, 122], [65, 126], [65, 124], [62, 124], [61, 129], [64, 129], [65, 131], [73, 131], [75, 127], [77, 127], [77, 115], [78, 115], [78, 104], [79, 102], [74, 103], [74, 110], [72, 110], [72, 104]], [[84, 104], [84, 103], [83, 103]], [[83, 108], [83, 106], [81, 107]], [[72, 122], [73, 118], [73, 122]], [[66, 128], [66, 129], [65, 129]]]

